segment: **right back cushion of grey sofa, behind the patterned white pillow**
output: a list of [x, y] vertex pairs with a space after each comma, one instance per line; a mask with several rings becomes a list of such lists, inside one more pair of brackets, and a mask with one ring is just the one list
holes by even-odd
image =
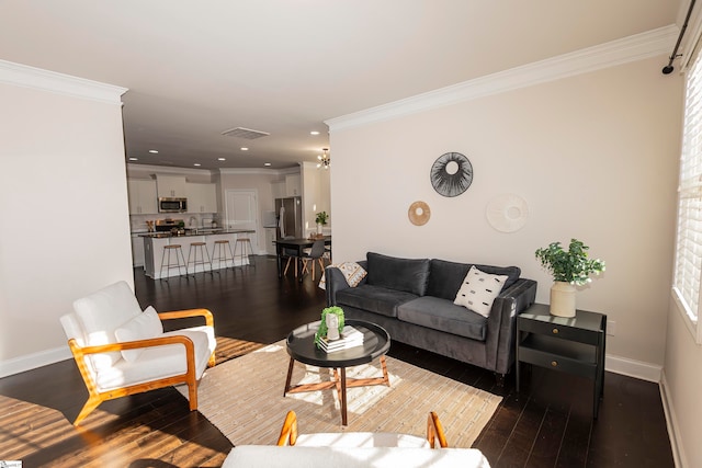
[[[432, 259], [430, 263], [429, 283], [427, 285], [427, 296], [441, 297], [443, 299], [454, 300], [456, 293], [463, 284], [465, 275], [468, 274], [471, 263], [448, 262], [445, 260]], [[502, 289], [510, 287], [521, 274], [518, 266], [491, 266], [475, 265], [478, 270], [492, 275], [507, 275], [507, 282]]]

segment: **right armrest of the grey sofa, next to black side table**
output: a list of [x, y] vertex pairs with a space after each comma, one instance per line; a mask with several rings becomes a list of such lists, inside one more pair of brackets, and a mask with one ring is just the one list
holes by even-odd
[[485, 352], [487, 368], [507, 374], [514, 363], [514, 333], [517, 316], [536, 300], [536, 282], [519, 278], [495, 298], [488, 318]]

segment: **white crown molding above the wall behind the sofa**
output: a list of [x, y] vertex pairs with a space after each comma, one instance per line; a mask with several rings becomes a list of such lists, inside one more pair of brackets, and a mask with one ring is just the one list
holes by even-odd
[[498, 94], [539, 83], [638, 61], [670, 53], [678, 26], [657, 30], [511, 68], [434, 91], [325, 121], [329, 132], [388, 121], [432, 109]]

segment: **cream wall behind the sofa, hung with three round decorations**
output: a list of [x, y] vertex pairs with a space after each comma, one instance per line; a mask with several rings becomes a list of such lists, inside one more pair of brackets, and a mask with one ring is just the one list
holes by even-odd
[[[681, 82], [663, 76], [665, 57], [417, 112], [331, 129], [336, 262], [366, 251], [508, 265], [552, 279], [534, 251], [585, 241], [608, 270], [577, 296], [578, 307], [616, 322], [608, 365], [657, 379], [664, 364], [679, 155]], [[442, 197], [429, 169], [444, 152], [464, 153], [473, 185]], [[489, 201], [513, 193], [530, 218], [513, 233], [494, 230]], [[424, 226], [409, 222], [415, 201]], [[631, 367], [631, 368], [629, 368]]]

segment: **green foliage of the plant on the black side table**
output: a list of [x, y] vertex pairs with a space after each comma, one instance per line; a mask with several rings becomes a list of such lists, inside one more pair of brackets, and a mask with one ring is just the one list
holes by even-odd
[[599, 275], [604, 271], [604, 261], [591, 260], [586, 244], [570, 239], [568, 250], [563, 250], [561, 242], [551, 242], [548, 247], [536, 249], [536, 259], [553, 275], [554, 282], [565, 282], [582, 286], [590, 283], [590, 274]]

